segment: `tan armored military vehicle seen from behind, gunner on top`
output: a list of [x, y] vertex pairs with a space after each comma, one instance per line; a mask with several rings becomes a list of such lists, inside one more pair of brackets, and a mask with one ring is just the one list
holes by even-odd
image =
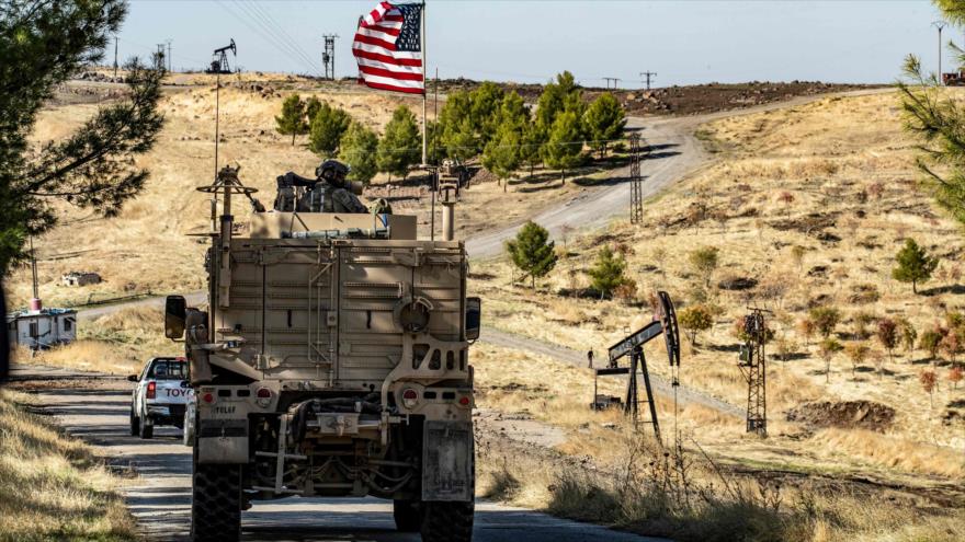
[[[198, 188], [224, 209], [208, 304], [167, 299], [195, 390], [192, 538], [237, 540], [252, 500], [372, 495], [393, 500], [401, 531], [468, 541], [480, 303], [465, 247], [418, 240], [410, 216], [314, 211], [322, 181], [291, 180], [268, 210], [237, 169]], [[245, 235], [239, 195], [254, 204]], [[306, 198], [320, 205], [298, 211]]]

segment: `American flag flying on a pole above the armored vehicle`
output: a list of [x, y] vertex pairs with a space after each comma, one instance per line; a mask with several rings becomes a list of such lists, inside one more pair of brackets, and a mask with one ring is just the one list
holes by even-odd
[[360, 19], [352, 54], [362, 81], [373, 89], [424, 94], [422, 4], [379, 2]]

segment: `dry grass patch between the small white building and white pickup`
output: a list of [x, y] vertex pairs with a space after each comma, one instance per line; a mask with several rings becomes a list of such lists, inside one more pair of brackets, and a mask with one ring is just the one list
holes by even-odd
[[183, 345], [163, 335], [161, 309], [135, 307], [84, 321], [78, 341], [38, 353], [21, 348], [16, 360], [24, 364], [66, 367], [109, 374], [134, 374], [152, 356], [183, 355]]

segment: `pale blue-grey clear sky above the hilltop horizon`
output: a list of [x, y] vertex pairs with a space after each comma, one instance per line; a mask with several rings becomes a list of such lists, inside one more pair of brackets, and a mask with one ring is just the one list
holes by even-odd
[[[132, 0], [118, 56], [170, 39], [173, 68], [198, 69], [234, 38], [243, 70], [320, 74], [321, 36], [338, 34], [336, 76], [355, 76], [352, 35], [375, 3]], [[939, 56], [928, 0], [427, 0], [425, 16], [428, 71], [441, 78], [545, 82], [569, 70], [589, 87], [612, 77], [639, 88], [644, 71], [657, 73], [655, 87], [889, 83], [908, 54], [929, 71]], [[946, 27], [950, 38], [961, 44], [963, 31]]]

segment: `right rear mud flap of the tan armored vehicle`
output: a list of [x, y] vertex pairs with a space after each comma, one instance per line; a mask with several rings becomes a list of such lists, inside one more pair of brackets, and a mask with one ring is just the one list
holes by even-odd
[[473, 423], [428, 420], [422, 438], [422, 500], [473, 500]]

